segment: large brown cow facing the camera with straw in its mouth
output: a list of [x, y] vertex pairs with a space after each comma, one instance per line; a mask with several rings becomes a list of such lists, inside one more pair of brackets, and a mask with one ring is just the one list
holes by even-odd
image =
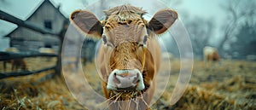
[[161, 59], [156, 35], [172, 26], [177, 13], [162, 9], [149, 22], [145, 11], [131, 5], [104, 13], [102, 22], [86, 10], [73, 12], [70, 20], [91, 38], [102, 38], [97, 61], [109, 109], [148, 109]]

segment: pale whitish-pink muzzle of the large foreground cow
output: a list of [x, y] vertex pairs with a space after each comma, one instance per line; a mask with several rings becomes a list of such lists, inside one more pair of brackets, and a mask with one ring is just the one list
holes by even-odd
[[108, 90], [144, 90], [143, 74], [137, 70], [113, 70], [108, 77]]

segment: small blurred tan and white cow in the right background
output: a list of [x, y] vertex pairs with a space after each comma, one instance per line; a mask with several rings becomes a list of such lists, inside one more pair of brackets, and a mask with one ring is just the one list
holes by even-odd
[[218, 49], [207, 46], [203, 49], [203, 54], [204, 54], [205, 63], [207, 61], [213, 61], [213, 62], [218, 61], [220, 64], [220, 57], [218, 55]]

